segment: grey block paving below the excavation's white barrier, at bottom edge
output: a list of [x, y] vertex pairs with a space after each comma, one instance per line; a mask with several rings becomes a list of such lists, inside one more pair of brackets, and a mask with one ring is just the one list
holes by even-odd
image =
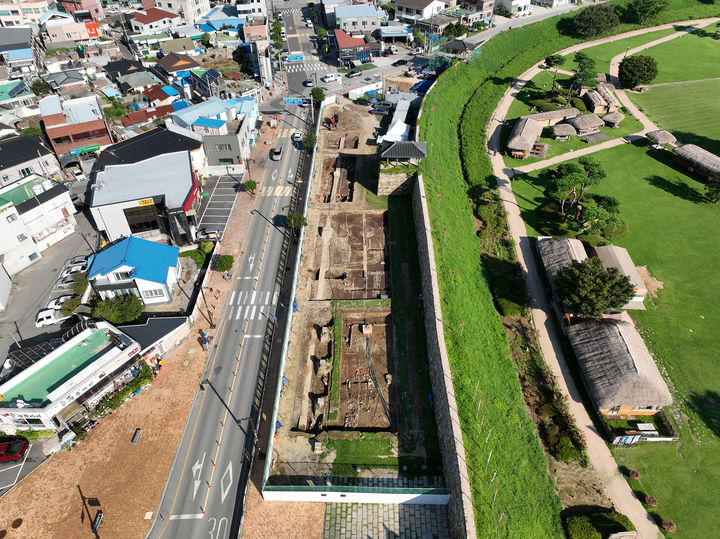
[[326, 539], [443, 539], [448, 533], [444, 505], [328, 503]]

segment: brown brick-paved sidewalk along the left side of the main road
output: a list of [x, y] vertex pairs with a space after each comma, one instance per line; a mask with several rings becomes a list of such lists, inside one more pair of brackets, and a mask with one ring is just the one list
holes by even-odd
[[[252, 200], [240, 194], [220, 253], [237, 257]], [[229, 281], [213, 272], [207, 301], [219, 316]], [[152, 385], [100, 421], [70, 451], [50, 457], [0, 498], [0, 536], [11, 538], [92, 537], [98, 509], [105, 518], [101, 534], [142, 537], [157, 508], [175, 448], [207, 358], [197, 336], [209, 330], [201, 315], [187, 342], [165, 363]], [[130, 440], [143, 431], [138, 445]], [[3, 531], [6, 535], [3, 535]]]

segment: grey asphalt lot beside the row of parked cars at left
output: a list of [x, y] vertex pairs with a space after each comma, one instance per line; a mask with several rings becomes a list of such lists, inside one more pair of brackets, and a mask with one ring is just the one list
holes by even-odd
[[13, 287], [5, 311], [0, 312], [0, 358], [4, 359], [12, 347], [28, 346], [59, 337], [73, 325], [73, 319], [62, 324], [35, 327], [35, 316], [48, 302], [67, 289], [56, 287], [63, 264], [77, 255], [87, 255], [97, 245], [97, 233], [83, 213], [75, 215], [77, 225], [70, 236], [45, 249], [42, 258], [12, 277]]

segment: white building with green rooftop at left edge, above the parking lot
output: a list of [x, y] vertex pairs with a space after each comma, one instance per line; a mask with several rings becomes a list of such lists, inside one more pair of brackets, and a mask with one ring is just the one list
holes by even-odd
[[33, 174], [0, 189], [0, 255], [10, 275], [75, 231], [67, 187]]

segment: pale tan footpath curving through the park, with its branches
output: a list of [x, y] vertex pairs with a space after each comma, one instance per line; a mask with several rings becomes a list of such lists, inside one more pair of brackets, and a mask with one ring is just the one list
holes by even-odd
[[[592, 41], [589, 43], [574, 45], [572, 47], [559, 51], [558, 54], [570, 54], [578, 50], [592, 47], [594, 45], [609, 43], [612, 41], [625, 39], [634, 35], [653, 32], [655, 30], [662, 30], [664, 28], [671, 28], [673, 26], [681, 26], [692, 23], [698, 25], [695, 28], [697, 29], [703, 26], [707, 26], [709, 24], [713, 24], [718, 20], [720, 19], [702, 19], [696, 21], [685, 21], [673, 24], [666, 24], [662, 26], [656, 26], [654, 28], [645, 28], [634, 32], [628, 32], [625, 34]], [[646, 43], [641, 47], [630, 50], [629, 54], [635, 54], [636, 52], [647, 49], [653, 45], [675, 39], [682, 35], [685, 34], [682, 32], [678, 32], [676, 34], [666, 36], [656, 41]], [[617, 80], [617, 66], [624, 55], [625, 53], [616, 56], [611, 62], [610, 74], [613, 81]], [[615, 508], [620, 513], [627, 515], [630, 520], [632, 520], [633, 524], [635, 524], [635, 527], [638, 530], [640, 537], [655, 539], [660, 535], [660, 530], [658, 529], [652, 518], [650, 518], [647, 511], [640, 503], [640, 500], [638, 500], [637, 497], [635, 497], [635, 495], [633, 494], [630, 485], [628, 485], [627, 481], [620, 473], [618, 465], [615, 462], [615, 459], [613, 458], [610, 449], [605, 443], [602, 434], [598, 432], [593, 425], [593, 422], [591, 421], [590, 416], [588, 415], [587, 410], [583, 405], [582, 397], [580, 396], [578, 387], [576, 386], [575, 381], [570, 374], [567, 362], [563, 357], [562, 349], [560, 347], [560, 335], [554, 324], [554, 321], [551, 318], [553, 315], [550, 301], [546, 293], [545, 285], [540, 278], [537, 263], [535, 262], [533, 248], [530, 243], [530, 238], [528, 237], [527, 231], [525, 229], [525, 223], [520, 216], [520, 209], [517, 205], [515, 194], [513, 193], [510, 186], [510, 178], [514, 174], [514, 170], [508, 169], [505, 166], [502, 154], [500, 153], [500, 131], [510, 104], [515, 99], [518, 92], [525, 86], [525, 84], [527, 84], [527, 82], [535, 75], [537, 75], [539, 71], [539, 66], [534, 66], [521, 74], [513, 82], [510, 88], [508, 88], [508, 90], [505, 92], [505, 95], [495, 109], [495, 113], [493, 114], [493, 117], [490, 120], [490, 125], [488, 126], [488, 133], [491, 134], [490, 139], [488, 140], [490, 160], [493, 165], [493, 171], [495, 173], [495, 176], [497, 177], [503, 206], [505, 208], [505, 211], [507, 212], [508, 227], [510, 229], [512, 238], [515, 241], [515, 249], [518, 256], [518, 261], [520, 262], [525, 272], [528, 293], [532, 298], [531, 310], [533, 322], [538, 332], [538, 339], [545, 362], [550, 366], [553, 373], [557, 376], [558, 384], [560, 385], [563, 393], [568, 395], [569, 397], [568, 404], [570, 406], [570, 413], [575, 417], [578, 427], [585, 435], [585, 439], [587, 441], [587, 452], [590, 458], [590, 462], [594, 466], [600, 479], [605, 485], [606, 495], [610, 498], [610, 500], [612, 500]], [[619, 138], [607, 142], [602, 142], [600, 144], [596, 144], [582, 150], [570, 152], [562, 156], [545, 159], [543, 161], [539, 161], [537, 163], [533, 163], [524, 167], [517, 167], [517, 170], [529, 171], [538, 168], [544, 168], [546, 166], [552, 165], [553, 163], [566, 161], [568, 159], [574, 159], [575, 157], [578, 157], [580, 155], [593, 153], [604, 150], [606, 148], [611, 148], [613, 146], [624, 144], [626, 142], [629, 142], [628, 139], [630, 137], [642, 136], [647, 131], [657, 129], [657, 127], [647, 117], [645, 117], [645, 115], [642, 114], [637, 109], [637, 107], [632, 104], [632, 102], [623, 90], [618, 90], [617, 94], [620, 102], [624, 106], [626, 106], [635, 115], [635, 117], [642, 122], [642, 131], [633, 135], [629, 135], [626, 138]]]

